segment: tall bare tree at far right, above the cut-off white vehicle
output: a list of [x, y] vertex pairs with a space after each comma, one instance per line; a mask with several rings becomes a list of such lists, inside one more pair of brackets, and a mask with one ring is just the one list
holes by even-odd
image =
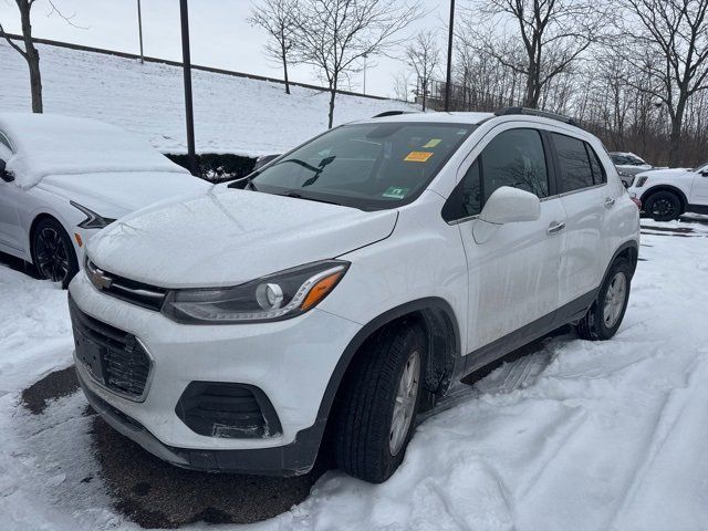
[[678, 165], [688, 104], [708, 90], [708, 0], [622, 3], [632, 14], [623, 24], [623, 37], [635, 44], [629, 50], [632, 61], [654, 81], [642, 90], [666, 106], [671, 123], [668, 162]]

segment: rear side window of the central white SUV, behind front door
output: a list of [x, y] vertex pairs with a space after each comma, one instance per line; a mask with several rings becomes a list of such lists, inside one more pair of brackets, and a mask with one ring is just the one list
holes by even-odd
[[604, 183], [604, 171], [595, 152], [572, 136], [551, 133], [560, 165], [559, 191], [568, 192]]

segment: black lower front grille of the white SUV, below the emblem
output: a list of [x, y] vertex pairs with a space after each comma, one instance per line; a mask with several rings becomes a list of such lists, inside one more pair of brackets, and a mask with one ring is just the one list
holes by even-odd
[[143, 397], [150, 358], [135, 335], [83, 313], [69, 299], [76, 357], [102, 386], [131, 399]]

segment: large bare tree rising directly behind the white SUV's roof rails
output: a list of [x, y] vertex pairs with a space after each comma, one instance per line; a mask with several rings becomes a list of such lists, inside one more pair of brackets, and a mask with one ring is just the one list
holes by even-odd
[[545, 85], [597, 41], [607, 23], [604, 6], [604, 0], [477, 0], [466, 21], [478, 48], [525, 77], [523, 104], [538, 107]]

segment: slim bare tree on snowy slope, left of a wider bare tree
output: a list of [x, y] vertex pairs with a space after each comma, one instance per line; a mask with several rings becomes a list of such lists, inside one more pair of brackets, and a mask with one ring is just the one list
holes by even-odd
[[248, 19], [250, 24], [268, 32], [270, 39], [266, 44], [266, 53], [283, 65], [287, 94], [290, 94], [288, 63], [293, 63], [291, 55], [295, 43], [298, 10], [298, 0], [262, 0], [260, 6], [253, 7]]

